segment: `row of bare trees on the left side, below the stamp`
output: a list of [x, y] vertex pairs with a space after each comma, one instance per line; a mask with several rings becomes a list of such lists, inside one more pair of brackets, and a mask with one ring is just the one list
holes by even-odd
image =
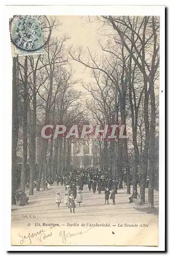
[[[54, 20], [51, 30], [53, 28]], [[12, 203], [15, 203], [14, 195], [18, 188], [17, 151], [22, 154], [22, 191], [25, 191], [29, 164], [30, 195], [34, 191], [34, 178], [38, 181], [39, 191], [40, 182], [44, 184], [47, 176], [50, 183], [54, 181], [58, 167], [61, 173], [62, 162], [70, 164], [70, 140], [51, 138], [48, 141], [40, 136], [46, 124], [62, 123], [71, 126], [83, 120], [82, 93], [74, 89], [78, 80], [73, 79], [74, 72], [66, 55], [65, 42], [68, 39], [67, 36], [52, 38], [47, 42], [43, 55], [13, 58]]]

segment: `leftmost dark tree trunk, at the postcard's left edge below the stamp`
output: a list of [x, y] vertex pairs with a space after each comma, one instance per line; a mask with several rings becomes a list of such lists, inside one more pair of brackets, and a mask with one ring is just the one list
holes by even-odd
[[17, 189], [17, 155], [16, 147], [18, 141], [19, 120], [18, 120], [18, 57], [13, 57], [12, 67], [12, 197], [11, 203], [16, 204], [15, 192]]

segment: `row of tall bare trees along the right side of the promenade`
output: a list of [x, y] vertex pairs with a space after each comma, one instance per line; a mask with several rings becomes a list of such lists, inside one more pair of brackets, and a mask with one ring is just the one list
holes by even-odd
[[[145, 202], [145, 181], [149, 174], [149, 203], [154, 205], [154, 181], [158, 165], [156, 125], [158, 127], [159, 87], [159, 18], [154, 16], [102, 16], [105, 53], [102, 59], [87, 48], [88, 61], [81, 48], [70, 49], [73, 59], [91, 69], [94, 83], [84, 84], [91, 94], [87, 108], [93, 120], [102, 125], [129, 125], [129, 140], [103, 141], [105, 165], [117, 167], [120, 182], [126, 167], [127, 193], [130, 194], [130, 167], [133, 168], [133, 189], [137, 190], [140, 169], [141, 203]], [[130, 164], [131, 154], [131, 164]], [[110, 156], [109, 159], [107, 156]], [[104, 160], [105, 159], [105, 160]], [[109, 163], [108, 163], [109, 161]], [[131, 166], [130, 166], [131, 165]]]

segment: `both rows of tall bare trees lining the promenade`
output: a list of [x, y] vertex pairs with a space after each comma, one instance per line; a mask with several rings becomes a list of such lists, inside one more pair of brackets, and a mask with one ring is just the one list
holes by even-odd
[[[99, 42], [103, 55], [87, 48], [67, 52], [69, 38], [52, 38], [45, 46], [45, 54], [13, 58], [13, 141], [12, 141], [12, 203], [17, 186], [17, 150], [22, 152], [20, 187], [24, 191], [29, 164], [29, 194], [33, 195], [33, 179], [38, 168], [37, 190], [48, 176], [54, 181], [56, 173], [70, 165], [71, 139], [50, 141], [39, 136], [45, 124], [92, 122], [124, 124], [128, 139], [98, 140], [101, 167], [110, 169], [118, 177], [120, 186], [124, 176], [127, 194], [130, 180], [133, 189], [140, 180], [141, 203], [145, 202], [145, 181], [149, 175], [149, 203], [154, 205], [156, 158], [158, 158], [158, 86], [159, 86], [159, 19], [154, 16], [100, 16], [104, 38]], [[58, 23], [57, 23], [58, 24]], [[56, 29], [51, 22], [51, 30]], [[107, 33], [106, 33], [107, 31]], [[102, 36], [101, 36], [102, 38]], [[88, 57], [87, 57], [88, 56]], [[93, 83], [81, 81], [91, 95], [83, 100], [82, 92], [74, 86], [70, 60], [91, 70]], [[36, 164], [39, 137], [39, 164]], [[38, 167], [37, 167], [38, 166]]]

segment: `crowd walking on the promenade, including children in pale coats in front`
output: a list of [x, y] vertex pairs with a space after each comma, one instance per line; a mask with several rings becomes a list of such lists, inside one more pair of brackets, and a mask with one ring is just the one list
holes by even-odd
[[[104, 191], [105, 204], [109, 204], [109, 199], [115, 205], [115, 194], [117, 194], [118, 181], [115, 181], [110, 175], [110, 172], [99, 170], [98, 168], [80, 168], [74, 172], [65, 172], [64, 175], [56, 175], [57, 185], [65, 186], [65, 206], [70, 209], [70, 212], [75, 213], [75, 200], [81, 206], [83, 202], [82, 191], [84, 184], [88, 185], [89, 191], [95, 194], [98, 191], [101, 194]], [[78, 187], [78, 193], [77, 193]], [[111, 193], [110, 193], [111, 190]], [[61, 195], [57, 192], [56, 203], [60, 207]]]

